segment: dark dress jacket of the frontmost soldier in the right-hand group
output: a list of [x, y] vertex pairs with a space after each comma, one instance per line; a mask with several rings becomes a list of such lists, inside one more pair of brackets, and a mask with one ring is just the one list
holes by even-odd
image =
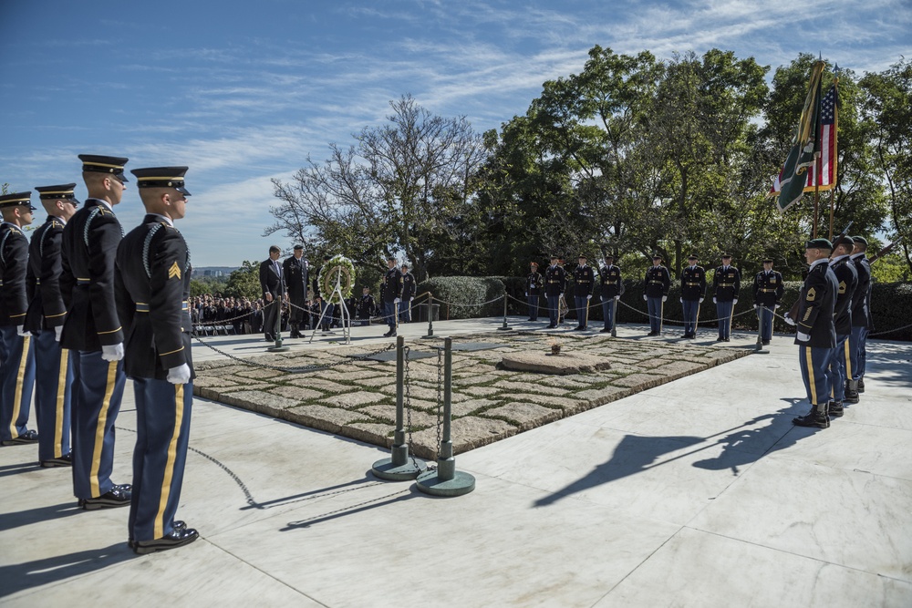
[[836, 275], [828, 262], [817, 263], [807, 273], [801, 294], [798, 296], [798, 316], [795, 322], [797, 330], [811, 335], [811, 339], [808, 342], [799, 342], [796, 337], [796, 345], [834, 348], [836, 328], [833, 323], [833, 311], [838, 291]]

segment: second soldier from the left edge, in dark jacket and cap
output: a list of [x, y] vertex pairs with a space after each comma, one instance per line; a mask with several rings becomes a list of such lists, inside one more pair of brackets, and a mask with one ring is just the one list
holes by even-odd
[[28, 246], [28, 265], [34, 279], [34, 294], [28, 304], [26, 329], [35, 336], [35, 413], [41, 436], [38, 460], [42, 467], [68, 467], [70, 453], [72, 355], [60, 343], [67, 306], [60, 291], [60, 243], [63, 229], [78, 209], [75, 183], [36, 188], [47, 211], [47, 222], [33, 234]]

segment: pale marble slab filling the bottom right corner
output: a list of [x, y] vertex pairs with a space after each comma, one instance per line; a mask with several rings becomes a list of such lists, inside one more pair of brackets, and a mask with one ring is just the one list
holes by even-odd
[[900, 608], [909, 603], [912, 583], [684, 528], [595, 606]]

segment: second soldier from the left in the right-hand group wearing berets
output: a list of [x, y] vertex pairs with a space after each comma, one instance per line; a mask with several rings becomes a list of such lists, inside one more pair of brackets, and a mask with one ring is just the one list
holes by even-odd
[[[851, 236], [846, 236], [835, 245], [833, 257], [830, 259], [830, 268], [836, 275], [836, 304], [833, 313], [833, 322], [836, 329], [836, 345], [830, 359], [829, 381], [832, 399], [827, 406], [827, 411], [832, 417], [843, 415], [843, 400], [845, 399], [845, 380], [851, 377], [853, 363], [857, 365], [858, 359], [851, 354], [849, 335], [852, 335], [852, 300], [855, 298], [855, 289], [858, 286], [858, 271], [849, 255], [855, 246]], [[854, 360], [854, 361], [853, 361]]]

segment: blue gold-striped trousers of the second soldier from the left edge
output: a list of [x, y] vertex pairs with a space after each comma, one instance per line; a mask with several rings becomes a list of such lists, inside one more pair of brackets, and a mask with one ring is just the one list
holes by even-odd
[[73, 366], [69, 350], [55, 339], [53, 329], [36, 335], [35, 417], [38, 422], [38, 459], [58, 459], [69, 454], [70, 388]]

